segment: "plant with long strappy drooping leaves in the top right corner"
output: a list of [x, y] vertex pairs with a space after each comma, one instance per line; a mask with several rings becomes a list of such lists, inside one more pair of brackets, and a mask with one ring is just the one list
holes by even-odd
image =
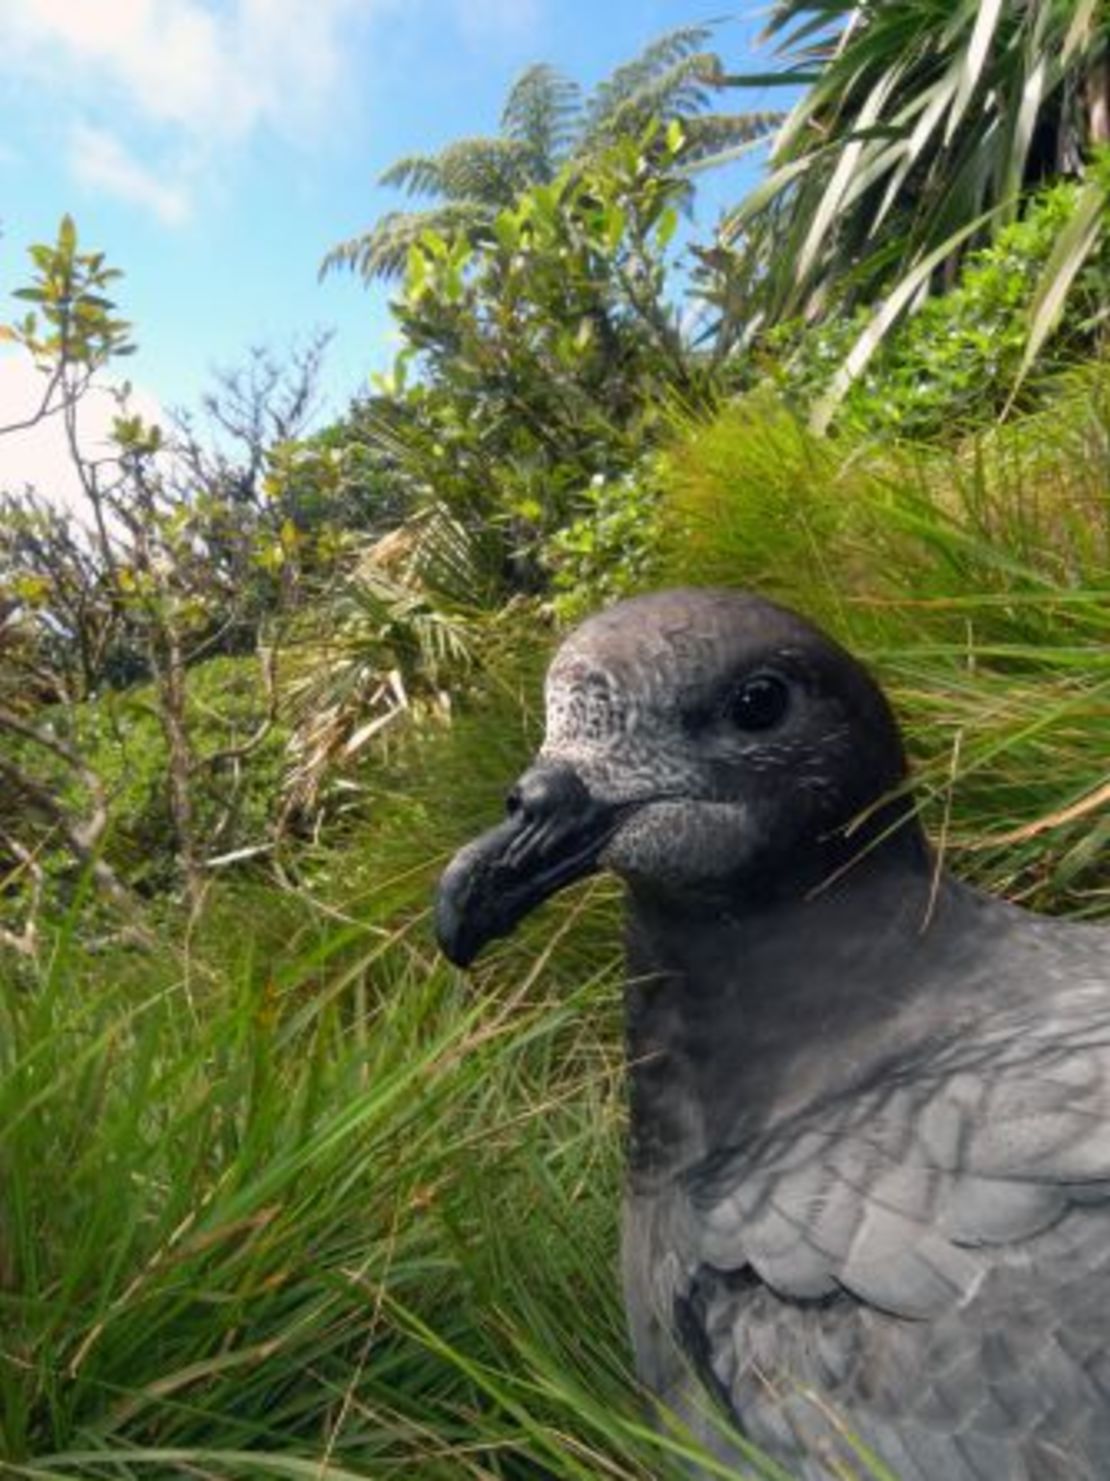
[[[880, 0], [817, 16], [785, 0], [769, 31], [787, 64], [777, 80], [806, 92], [731, 231], [762, 268], [748, 323], [874, 310], [827, 415], [941, 270], [1014, 221], [1028, 188], [1091, 164], [1110, 105], [1106, 18], [1092, 0], [929, 13]], [[1023, 369], [1104, 235], [1107, 190], [1091, 169], [1057, 231]]]

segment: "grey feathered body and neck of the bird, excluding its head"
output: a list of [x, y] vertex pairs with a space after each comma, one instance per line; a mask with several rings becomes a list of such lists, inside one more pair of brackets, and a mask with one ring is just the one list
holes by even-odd
[[867, 1474], [842, 1425], [900, 1481], [1106, 1477], [1104, 933], [953, 881], [920, 930], [931, 881], [898, 883], [857, 881], [858, 954], [831, 895], [630, 986], [640, 1374], [738, 1468], [707, 1391], [806, 1481]]

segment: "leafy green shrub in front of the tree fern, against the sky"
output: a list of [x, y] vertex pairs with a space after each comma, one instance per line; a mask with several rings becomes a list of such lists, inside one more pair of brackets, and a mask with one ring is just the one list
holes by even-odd
[[409, 253], [406, 348], [366, 432], [422, 502], [498, 536], [510, 588], [539, 582], [536, 545], [591, 478], [639, 462], [668, 401], [711, 394], [665, 298], [682, 141], [652, 124], [526, 191], [479, 240], [425, 231]]

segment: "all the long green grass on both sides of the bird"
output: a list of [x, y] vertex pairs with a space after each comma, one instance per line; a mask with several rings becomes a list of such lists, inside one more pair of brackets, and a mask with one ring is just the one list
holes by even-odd
[[[741, 404], [689, 432], [667, 511], [670, 579], [757, 586], [874, 663], [954, 866], [1076, 914], [1110, 906], [1103, 385], [954, 455]], [[79, 897], [0, 967], [0, 1474], [680, 1474], [619, 1308], [615, 892], [473, 977], [430, 943], [437, 868], [538, 735], [520, 647], [295, 889], [219, 880], [157, 952], [84, 943]]]

